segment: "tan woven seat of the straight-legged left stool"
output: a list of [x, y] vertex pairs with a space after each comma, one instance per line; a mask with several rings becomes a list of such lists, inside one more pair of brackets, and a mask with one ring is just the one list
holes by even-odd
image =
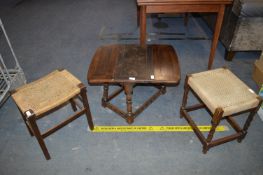
[[16, 89], [12, 97], [22, 112], [31, 109], [38, 116], [79, 94], [80, 83], [67, 70], [56, 70]]

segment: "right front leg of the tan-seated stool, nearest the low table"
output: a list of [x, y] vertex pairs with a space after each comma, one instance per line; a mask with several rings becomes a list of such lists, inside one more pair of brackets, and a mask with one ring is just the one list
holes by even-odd
[[92, 116], [90, 112], [90, 107], [89, 107], [89, 102], [88, 102], [88, 97], [87, 97], [87, 89], [83, 84], [80, 85], [80, 95], [83, 100], [83, 106], [85, 107], [85, 111], [86, 111], [85, 113], [86, 113], [86, 117], [88, 120], [89, 128], [90, 130], [93, 130], [94, 124], [93, 124]]

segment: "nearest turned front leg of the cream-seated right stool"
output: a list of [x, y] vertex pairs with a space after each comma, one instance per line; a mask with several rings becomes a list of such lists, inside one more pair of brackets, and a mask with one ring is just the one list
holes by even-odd
[[209, 150], [209, 143], [213, 139], [216, 127], [220, 123], [220, 120], [221, 120], [221, 118], [223, 116], [223, 113], [224, 113], [224, 111], [223, 111], [222, 108], [216, 108], [215, 113], [214, 113], [213, 118], [212, 118], [212, 121], [211, 121], [212, 127], [211, 127], [211, 129], [210, 129], [210, 131], [208, 133], [207, 139], [206, 139], [206, 142], [208, 143], [208, 145], [205, 145], [203, 147], [203, 153], [204, 154]]

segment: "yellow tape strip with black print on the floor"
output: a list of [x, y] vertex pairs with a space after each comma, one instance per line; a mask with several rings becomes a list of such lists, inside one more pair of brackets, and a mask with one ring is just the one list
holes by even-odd
[[[210, 131], [211, 126], [198, 126], [200, 131]], [[228, 131], [224, 125], [216, 131]], [[92, 132], [192, 132], [191, 126], [95, 126]]]

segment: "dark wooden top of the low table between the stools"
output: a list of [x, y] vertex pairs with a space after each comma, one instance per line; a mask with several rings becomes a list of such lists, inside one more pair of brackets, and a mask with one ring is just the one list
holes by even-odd
[[95, 52], [88, 71], [90, 84], [178, 84], [180, 67], [170, 45], [115, 44]]

